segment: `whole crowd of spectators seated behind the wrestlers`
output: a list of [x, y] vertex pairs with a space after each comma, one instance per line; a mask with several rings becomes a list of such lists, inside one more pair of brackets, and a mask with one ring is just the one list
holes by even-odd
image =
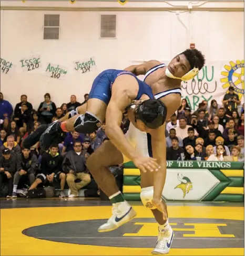
[[[16, 198], [20, 189], [21, 196], [41, 197], [47, 194], [44, 188], [54, 186], [59, 188], [59, 197], [65, 197], [65, 188], [69, 188], [69, 197], [79, 196], [81, 188], [90, 189], [90, 196], [99, 195], [86, 159], [108, 140], [105, 123], [92, 134], [64, 133], [60, 143], [52, 144], [48, 151], [40, 150], [39, 143], [31, 148], [22, 144], [41, 124], [64, 117], [87, 100], [88, 94], [84, 95], [83, 103], [72, 95], [69, 103], [57, 108], [46, 93], [36, 111], [27, 96], [22, 95], [13, 110], [0, 93], [0, 196]], [[182, 99], [176, 113], [166, 120], [167, 160], [244, 162], [244, 104], [238, 110], [240, 104], [233, 87], [224, 95], [222, 106], [215, 99], [210, 106], [203, 100], [192, 112], [187, 100]], [[125, 113], [121, 129], [126, 133], [128, 127]], [[111, 167], [113, 173], [117, 173], [115, 169], [119, 172], [122, 166]]]

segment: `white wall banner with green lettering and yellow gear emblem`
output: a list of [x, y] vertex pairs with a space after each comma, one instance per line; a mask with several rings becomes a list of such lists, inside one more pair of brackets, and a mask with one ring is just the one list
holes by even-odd
[[186, 98], [191, 110], [197, 110], [202, 100], [217, 100], [222, 105], [224, 94], [233, 86], [243, 102], [244, 60], [209, 62], [195, 79], [182, 82], [182, 98]]

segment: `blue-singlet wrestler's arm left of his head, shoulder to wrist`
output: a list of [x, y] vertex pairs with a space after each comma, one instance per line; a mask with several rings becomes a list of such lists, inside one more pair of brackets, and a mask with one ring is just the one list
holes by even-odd
[[120, 128], [123, 113], [126, 107], [137, 95], [137, 89], [119, 89], [112, 93], [110, 102], [106, 110], [106, 135], [118, 150], [126, 157], [134, 160], [138, 154], [134, 147], [130, 145], [123, 131]]

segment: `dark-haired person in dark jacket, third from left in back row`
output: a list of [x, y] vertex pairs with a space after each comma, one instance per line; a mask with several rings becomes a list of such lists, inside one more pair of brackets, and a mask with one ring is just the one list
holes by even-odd
[[46, 124], [50, 124], [52, 121], [53, 116], [55, 116], [56, 106], [53, 101], [51, 101], [51, 97], [49, 93], [44, 95], [45, 101], [41, 102], [38, 107], [38, 112], [42, 117], [43, 121]]

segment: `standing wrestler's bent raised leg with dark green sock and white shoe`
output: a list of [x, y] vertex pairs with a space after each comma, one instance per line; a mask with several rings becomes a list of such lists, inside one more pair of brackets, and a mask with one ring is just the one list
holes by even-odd
[[113, 203], [113, 215], [99, 227], [99, 232], [115, 230], [136, 216], [134, 209], [125, 201], [123, 194], [119, 191], [116, 179], [108, 168], [108, 166], [121, 163], [123, 163], [123, 155], [110, 141], [106, 141], [97, 148], [86, 162], [96, 183]]

